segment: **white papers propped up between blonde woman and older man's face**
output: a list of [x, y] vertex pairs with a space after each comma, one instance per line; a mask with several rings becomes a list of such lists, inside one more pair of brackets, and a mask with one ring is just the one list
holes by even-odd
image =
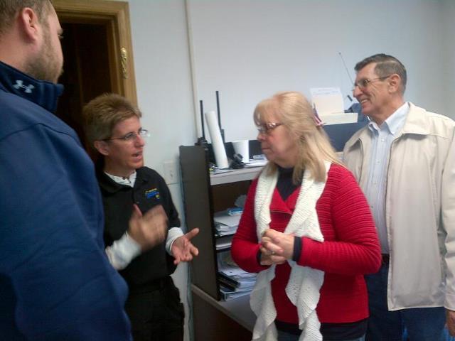
[[323, 124], [357, 122], [358, 113], [344, 112], [343, 96], [339, 87], [311, 88], [314, 109]]

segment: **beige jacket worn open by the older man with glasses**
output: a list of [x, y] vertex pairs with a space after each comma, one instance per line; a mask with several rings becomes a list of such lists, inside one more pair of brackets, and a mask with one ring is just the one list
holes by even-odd
[[[365, 190], [372, 134], [346, 142], [343, 159]], [[455, 122], [410, 103], [387, 164], [389, 310], [455, 310]]]

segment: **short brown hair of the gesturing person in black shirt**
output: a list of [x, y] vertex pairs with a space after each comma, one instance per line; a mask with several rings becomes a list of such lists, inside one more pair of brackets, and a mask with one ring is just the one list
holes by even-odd
[[138, 107], [119, 94], [102, 94], [85, 104], [82, 109], [84, 130], [92, 148], [95, 141], [109, 139], [114, 126], [130, 117], [141, 118]]

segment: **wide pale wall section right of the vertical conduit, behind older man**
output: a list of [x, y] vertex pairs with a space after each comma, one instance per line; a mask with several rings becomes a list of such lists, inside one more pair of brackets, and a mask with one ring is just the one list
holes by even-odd
[[220, 90], [227, 141], [255, 138], [252, 111], [274, 92], [309, 95], [310, 87], [338, 86], [350, 94], [338, 52], [351, 77], [355, 63], [368, 55], [395, 55], [409, 73], [407, 99], [445, 111], [445, 94], [434, 91], [446, 72], [441, 1], [188, 2], [197, 94], [205, 108], [215, 109]]

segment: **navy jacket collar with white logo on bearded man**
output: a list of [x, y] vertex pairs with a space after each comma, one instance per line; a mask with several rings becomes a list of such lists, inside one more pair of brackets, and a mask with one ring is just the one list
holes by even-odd
[[55, 112], [63, 85], [36, 80], [29, 75], [0, 62], [0, 90], [28, 99], [40, 107]]

